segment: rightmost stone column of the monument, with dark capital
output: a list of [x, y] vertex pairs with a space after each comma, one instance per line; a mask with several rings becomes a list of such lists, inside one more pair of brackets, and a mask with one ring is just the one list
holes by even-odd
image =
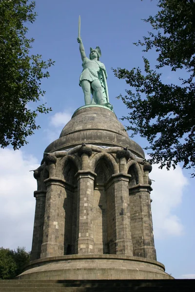
[[152, 213], [149, 184], [137, 184], [129, 189], [131, 230], [134, 256], [156, 260], [153, 236]]

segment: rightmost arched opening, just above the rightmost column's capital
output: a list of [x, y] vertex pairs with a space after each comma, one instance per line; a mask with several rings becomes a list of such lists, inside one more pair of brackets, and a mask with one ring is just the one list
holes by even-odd
[[133, 186], [138, 183], [143, 183], [143, 176], [139, 164], [135, 160], [130, 160], [127, 163], [127, 173], [131, 174], [130, 185]]

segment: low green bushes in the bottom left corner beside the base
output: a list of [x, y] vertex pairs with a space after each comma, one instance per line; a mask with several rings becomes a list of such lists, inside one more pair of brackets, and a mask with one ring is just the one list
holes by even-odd
[[23, 267], [30, 261], [30, 253], [24, 247], [13, 251], [9, 248], [0, 248], [0, 279], [14, 279], [21, 274]]

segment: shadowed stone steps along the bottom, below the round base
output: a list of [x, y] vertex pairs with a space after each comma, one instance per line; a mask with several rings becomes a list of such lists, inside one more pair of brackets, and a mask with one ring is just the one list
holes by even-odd
[[194, 292], [195, 280], [0, 280], [0, 292]]

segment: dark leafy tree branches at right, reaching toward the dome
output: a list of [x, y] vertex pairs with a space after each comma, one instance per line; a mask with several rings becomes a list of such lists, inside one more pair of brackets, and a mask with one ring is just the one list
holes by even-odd
[[[147, 138], [151, 163], [160, 168], [182, 163], [195, 169], [195, 0], [157, 0], [159, 11], [144, 19], [152, 31], [137, 46], [144, 54], [156, 50], [156, 68], [151, 69], [144, 56], [144, 73], [138, 67], [131, 71], [117, 68], [118, 78], [126, 79], [130, 89], [120, 95], [127, 108], [132, 137]], [[176, 84], [162, 82], [162, 68], [182, 73]], [[181, 75], [180, 75], [181, 76]], [[152, 151], [151, 151], [152, 150]], [[195, 173], [192, 171], [192, 176]]]

